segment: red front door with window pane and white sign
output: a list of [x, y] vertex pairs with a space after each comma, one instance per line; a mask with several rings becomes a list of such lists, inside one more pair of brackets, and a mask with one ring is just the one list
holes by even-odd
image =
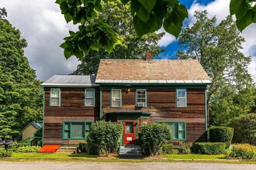
[[135, 121], [124, 121], [123, 145], [134, 145], [135, 141]]

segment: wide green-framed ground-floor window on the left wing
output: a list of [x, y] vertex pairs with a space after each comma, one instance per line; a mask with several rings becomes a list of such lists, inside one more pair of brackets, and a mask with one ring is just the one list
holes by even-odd
[[63, 121], [63, 139], [86, 139], [91, 130], [92, 121]]

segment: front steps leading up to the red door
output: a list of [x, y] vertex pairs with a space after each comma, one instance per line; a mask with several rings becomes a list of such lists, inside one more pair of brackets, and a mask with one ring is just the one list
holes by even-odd
[[142, 152], [138, 145], [125, 145], [120, 146], [119, 150], [120, 158], [141, 158]]

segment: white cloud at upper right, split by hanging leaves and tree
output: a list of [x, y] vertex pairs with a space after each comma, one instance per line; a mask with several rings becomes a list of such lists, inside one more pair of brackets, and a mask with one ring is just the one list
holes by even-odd
[[[207, 10], [209, 13], [209, 17], [212, 18], [214, 15], [216, 16], [217, 22], [220, 23], [221, 20], [225, 19], [227, 15], [230, 14], [230, 1], [216, 0], [207, 5], [200, 5], [196, 1], [192, 4], [191, 8], [189, 8], [189, 26], [195, 22], [195, 11], [203, 11]], [[242, 44], [243, 48], [242, 52], [246, 56], [251, 56], [251, 64], [248, 66], [248, 71], [251, 73], [251, 76], [254, 78], [254, 83], [256, 83], [256, 37], [254, 36], [254, 32], [256, 32], [256, 24], [251, 24], [242, 32], [242, 36], [244, 36], [245, 42]]]

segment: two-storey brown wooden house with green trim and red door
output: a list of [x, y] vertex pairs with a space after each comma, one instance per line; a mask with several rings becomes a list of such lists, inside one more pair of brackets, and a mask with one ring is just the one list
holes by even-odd
[[143, 124], [169, 124], [171, 142], [206, 141], [209, 76], [197, 60], [102, 59], [97, 76], [45, 81], [44, 144], [77, 145], [95, 121], [122, 122], [122, 145]]

